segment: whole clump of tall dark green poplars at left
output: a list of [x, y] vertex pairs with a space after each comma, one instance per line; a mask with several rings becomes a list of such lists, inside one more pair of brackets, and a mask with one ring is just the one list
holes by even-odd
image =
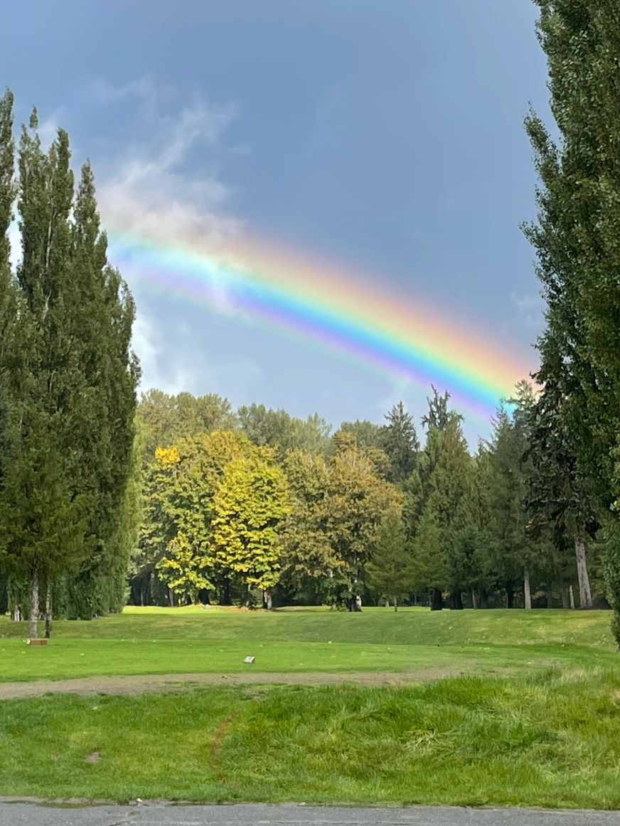
[[87, 164], [76, 195], [68, 135], [59, 130], [44, 150], [36, 110], [19, 144], [14, 279], [7, 268], [11, 103], [7, 93], [0, 105], [2, 570], [27, 582], [23, 607], [36, 636], [42, 604], [49, 634], [62, 582], [65, 605], [82, 604], [75, 615], [122, 605], [138, 369], [133, 304], [107, 264], [92, 173]]

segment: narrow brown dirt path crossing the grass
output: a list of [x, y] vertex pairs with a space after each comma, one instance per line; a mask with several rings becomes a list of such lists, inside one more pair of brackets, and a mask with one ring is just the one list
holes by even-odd
[[403, 686], [407, 683], [458, 676], [460, 668], [419, 668], [411, 672], [241, 672], [234, 674], [136, 674], [88, 676], [71, 680], [35, 680], [0, 683], [0, 700], [41, 697], [44, 694], [143, 694], [147, 691], [191, 691], [199, 686], [246, 686], [277, 684], [289, 686]]

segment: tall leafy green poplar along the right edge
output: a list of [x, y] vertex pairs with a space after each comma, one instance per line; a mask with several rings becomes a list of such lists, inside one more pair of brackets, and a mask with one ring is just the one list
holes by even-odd
[[554, 142], [540, 117], [527, 118], [540, 177], [527, 235], [547, 305], [540, 377], [561, 388], [576, 474], [606, 509], [620, 493], [620, 6], [536, 2], [559, 131]]

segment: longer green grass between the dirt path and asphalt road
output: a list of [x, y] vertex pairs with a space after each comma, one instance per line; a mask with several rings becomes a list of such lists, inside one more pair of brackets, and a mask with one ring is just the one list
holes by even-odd
[[0, 703], [0, 792], [620, 808], [620, 676]]

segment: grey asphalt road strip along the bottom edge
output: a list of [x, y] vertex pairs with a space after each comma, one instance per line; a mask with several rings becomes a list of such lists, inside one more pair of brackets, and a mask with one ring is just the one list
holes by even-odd
[[0, 803], [2, 826], [620, 826], [620, 812], [332, 809], [299, 805], [86, 806]]

